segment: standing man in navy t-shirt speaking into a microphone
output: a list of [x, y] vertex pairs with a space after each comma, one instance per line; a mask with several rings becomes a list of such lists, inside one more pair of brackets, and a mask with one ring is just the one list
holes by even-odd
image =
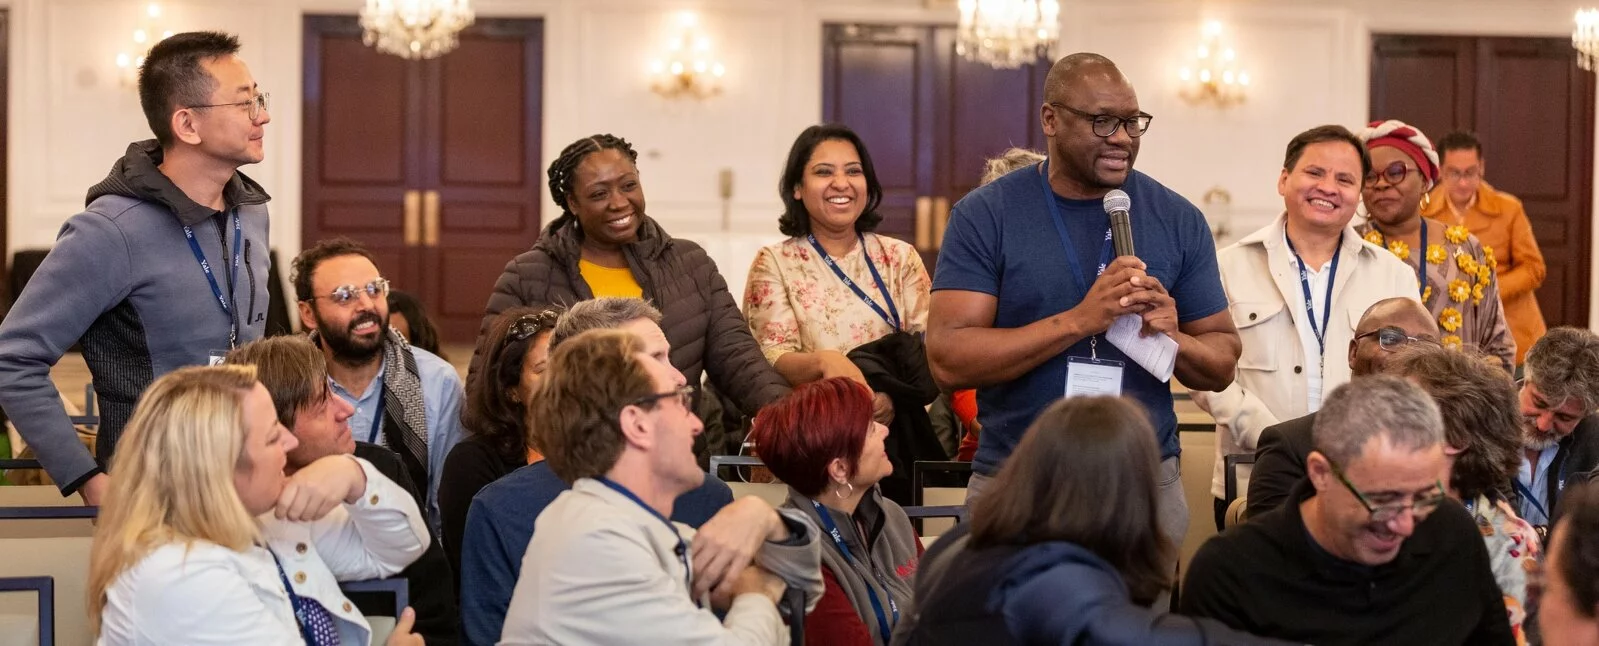
[[[1138, 315], [1143, 334], [1177, 341], [1177, 379], [1191, 389], [1225, 389], [1239, 341], [1210, 227], [1182, 195], [1132, 169], [1150, 115], [1138, 110], [1115, 62], [1067, 56], [1049, 70], [1044, 96], [1049, 160], [955, 205], [932, 281], [932, 374], [945, 389], [977, 389], [983, 427], [967, 502], [982, 494], [1033, 417], [1067, 392], [1070, 368], [1075, 392], [1086, 376], [1108, 376], [1148, 411], [1162, 457], [1161, 524], [1180, 542], [1188, 504], [1177, 473], [1170, 385], [1103, 333], [1118, 317]], [[1132, 197], [1137, 257], [1111, 257], [1102, 206], [1111, 189]]]

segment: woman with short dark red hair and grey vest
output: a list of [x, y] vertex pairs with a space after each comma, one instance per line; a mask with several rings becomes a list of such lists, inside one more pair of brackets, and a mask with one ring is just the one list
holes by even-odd
[[803, 384], [755, 417], [750, 440], [788, 484], [785, 507], [803, 512], [831, 545], [822, 548], [827, 588], [806, 616], [806, 644], [887, 646], [911, 611], [921, 540], [878, 489], [894, 472], [887, 435], [871, 419], [871, 390], [849, 377]]

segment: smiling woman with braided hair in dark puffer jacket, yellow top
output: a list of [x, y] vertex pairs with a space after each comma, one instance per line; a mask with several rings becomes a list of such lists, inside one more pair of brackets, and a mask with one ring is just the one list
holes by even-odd
[[[699, 245], [670, 237], [644, 213], [638, 152], [625, 139], [577, 139], [550, 163], [550, 197], [561, 214], [532, 249], [505, 265], [494, 285], [483, 331], [510, 307], [571, 305], [598, 296], [643, 297], [660, 309], [672, 365], [748, 416], [788, 393], [750, 334], [716, 262]], [[481, 365], [483, 333], [467, 384]]]

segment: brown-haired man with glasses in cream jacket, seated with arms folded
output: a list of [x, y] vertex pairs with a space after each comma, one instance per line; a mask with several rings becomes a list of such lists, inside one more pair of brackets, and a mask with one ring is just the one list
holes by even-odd
[[555, 350], [528, 417], [572, 489], [534, 524], [500, 644], [787, 643], [785, 587], [807, 608], [822, 596], [803, 516], [745, 497], [699, 532], [667, 520], [705, 478], [692, 392], [627, 331], [588, 331]]

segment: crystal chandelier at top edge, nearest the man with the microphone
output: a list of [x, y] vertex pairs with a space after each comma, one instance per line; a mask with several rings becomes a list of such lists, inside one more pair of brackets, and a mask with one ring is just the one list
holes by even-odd
[[1057, 0], [961, 0], [955, 53], [996, 69], [1054, 59], [1060, 43]]

